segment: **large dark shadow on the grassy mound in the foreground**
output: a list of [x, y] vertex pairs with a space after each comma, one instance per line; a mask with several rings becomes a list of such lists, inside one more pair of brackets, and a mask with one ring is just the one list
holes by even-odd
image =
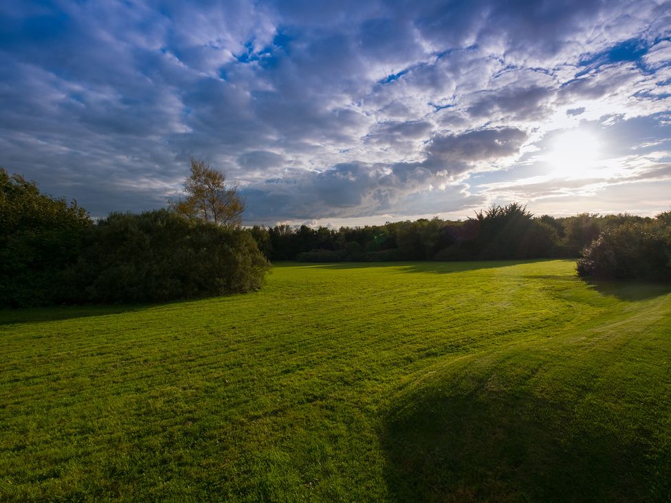
[[437, 393], [393, 412], [382, 436], [393, 498], [642, 501], [670, 493], [668, 460], [646, 446], [597, 433], [598, 425], [586, 431], [538, 397], [502, 395]]

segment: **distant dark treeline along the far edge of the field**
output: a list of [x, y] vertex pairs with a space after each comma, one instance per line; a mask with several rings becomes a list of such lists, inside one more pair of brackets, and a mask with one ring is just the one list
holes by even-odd
[[536, 217], [511, 203], [465, 221], [419, 219], [338, 230], [255, 226], [249, 232], [273, 261], [505, 260], [577, 258], [602, 232], [650, 221], [629, 214]]

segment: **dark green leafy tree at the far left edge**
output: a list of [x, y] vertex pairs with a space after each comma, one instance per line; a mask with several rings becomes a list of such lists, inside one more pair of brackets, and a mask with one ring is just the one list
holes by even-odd
[[76, 201], [52, 199], [0, 168], [0, 306], [63, 299], [63, 270], [80, 252], [91, 219]]

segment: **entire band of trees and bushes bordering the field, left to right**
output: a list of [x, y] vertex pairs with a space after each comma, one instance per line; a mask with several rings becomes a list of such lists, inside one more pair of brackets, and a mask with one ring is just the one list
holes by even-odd
[[[216, 202], [216, 201], [215, 201]], [[209, 207], [208, 207], [209, 208]], [[577, 258], [582, 276], [671, 282], [671, 212], [533, 216], [518, 203], [465, 221], [366, 227], [217, 225], [173, 210], [96, 223], [0, 168], [0, 306], [156, 302], [261, 287], [269, 260]]]

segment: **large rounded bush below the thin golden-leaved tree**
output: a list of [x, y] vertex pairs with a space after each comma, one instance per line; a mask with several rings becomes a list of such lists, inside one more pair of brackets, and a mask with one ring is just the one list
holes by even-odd
[[259, 289], [268, 271], [244, 230], [168, 210], [111, 214], [98, 222], [75, 267], [68, 300], [154, 302]]

